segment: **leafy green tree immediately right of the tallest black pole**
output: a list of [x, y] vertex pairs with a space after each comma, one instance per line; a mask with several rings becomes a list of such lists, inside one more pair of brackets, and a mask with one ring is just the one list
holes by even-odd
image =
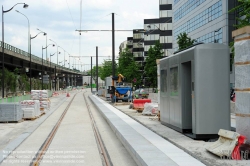
[[118, 73], [126, 78], [126, 82], [134, 82], [134, 84], [138, 84], [140, 83], [137, 81], [140, 80], [140, 73], [136, 71], [139, 71], [139, 66], [135, 62], [133, 54], [128, 48], [126, 48], [119, 56]]

